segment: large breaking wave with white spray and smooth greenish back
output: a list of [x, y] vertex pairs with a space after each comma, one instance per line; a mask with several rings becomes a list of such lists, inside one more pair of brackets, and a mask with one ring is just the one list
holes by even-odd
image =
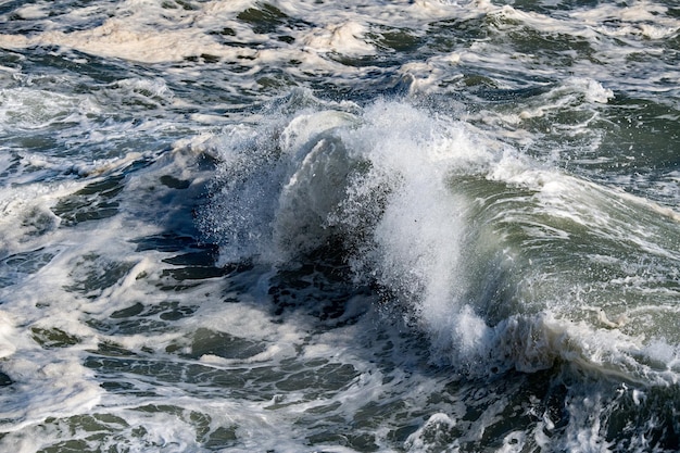
[[[360, 114], [317, 102], [277, 113], [254, 142], [224, 141], [238, 129], [216, 139], [217, 155], [226, 154], [205, 218], [209, 232], [228, 238], [222, 249], [282, 268], [319, 249], [340, 253], [355, 284], [382, 288], [383, 301], [426, 332], [433, 363], [462, 373], [568, 361], [664, 379], [635, 365], [643, 342], [630, 315], [612, 305], [617, 286], [604, 280], [595, 299], [579, 290], [583, 278], [620, 272], [604, 257], [621, 222], [634, 221], [620, 219], [628, 209], [617, 193], [486, 147], [464, 123], [403, 102], [378, 101]], [[664, 241], [633, 239], [630, 253], [654, 253], [654, 240]], [[579, 252], [583, 243], [590, 253]], [[564, 268], [568, 260], [585, 267]]]

